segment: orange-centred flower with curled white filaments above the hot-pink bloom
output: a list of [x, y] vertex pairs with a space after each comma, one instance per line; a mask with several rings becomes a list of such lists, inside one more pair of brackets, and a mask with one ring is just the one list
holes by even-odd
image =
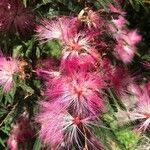
[[83, 33], [78, 33], [63, 44], [62, 63], [77, 60], [80, 64], [94, 64], [99, 58], [97, 50]]

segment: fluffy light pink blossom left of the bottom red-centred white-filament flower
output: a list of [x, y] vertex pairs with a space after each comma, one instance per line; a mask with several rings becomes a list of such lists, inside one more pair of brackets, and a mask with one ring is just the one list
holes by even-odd
[[41, 102], [40, 106], [40, 113], [36, 117], [41, 125], [39, 136], [45, 144], [55, 147], [62, 143], [64, 138], [64, 110], [61, 105], [55, 103]]

